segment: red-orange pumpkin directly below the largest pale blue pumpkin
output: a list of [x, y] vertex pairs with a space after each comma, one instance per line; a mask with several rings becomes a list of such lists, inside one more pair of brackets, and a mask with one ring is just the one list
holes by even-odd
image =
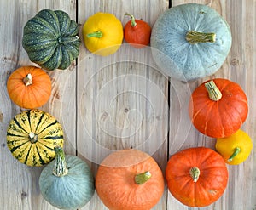
[[247, 119], [247, 96], [240, 85], [216, 78], [195, 88], [189, 101], [189, 117], [197, 130], [224, 138], [241, 128]]

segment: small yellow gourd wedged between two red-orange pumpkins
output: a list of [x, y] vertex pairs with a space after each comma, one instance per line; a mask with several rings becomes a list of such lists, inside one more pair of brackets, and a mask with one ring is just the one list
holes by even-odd
[[218, 138], [215, 147], [227, 164], [238, 165], [250, 156], [253, 142], [247, 133], [239, 129], [229, 137]]

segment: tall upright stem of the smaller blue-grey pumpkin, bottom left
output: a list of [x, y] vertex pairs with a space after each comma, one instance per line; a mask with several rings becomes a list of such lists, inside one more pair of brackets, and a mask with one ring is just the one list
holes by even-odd
[[68, 172], [65, 154], [61, 146], [55, 146], [55, 167], [53, 174], [57, 177], [65, 176]]

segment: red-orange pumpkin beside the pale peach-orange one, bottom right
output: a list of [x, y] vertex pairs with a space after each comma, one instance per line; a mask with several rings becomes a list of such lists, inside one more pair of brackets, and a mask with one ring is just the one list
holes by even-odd
[[224, 194], [228, 169], [222, 156], [206, 147], [181, 150], [166, 167], [168, 189], [188, 207], [206, 207]]

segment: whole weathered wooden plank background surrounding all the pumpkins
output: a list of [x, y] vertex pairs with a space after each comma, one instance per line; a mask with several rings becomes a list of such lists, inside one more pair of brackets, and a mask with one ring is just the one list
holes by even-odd
[[[98, 11], [115, 14], [123, 25], [125, 12], [148, 21], [150, 26], [168, 7], [203, 3], [216, 9], [230, 24], [233, 43], [222, 68], [213, 77], [241, 85], [247, 94], [249, 115], [242, 126], [253, 139], [256, 132], [256, 2], [255, 0], [10, 0], [0, 1], [0, 203], [3, 210], [53, 210], [38, 189], [43, 169], [26, 167], [11, 156], [6, 146], [9, 121], [21, 111], [7, 94], [6, 82], [21, 65], [33, 65], [22, 48], [23, 26], [41, 9], [62, 9], [80, 29]], [[81, 35], [81, 31], [80, 31]], [[62, 123], [68, 154], [80, 156], [94, 174], [98, 163], [113, 150], [138, 148], [150, 153], [164, 172], [169, 156], [184, 148], [204, 145], [214, 148], [215, 139], [195, 131], [187, 116], [189, 94], [210, 77], [189, 83], [166, 78], [157, 71], [150, 48], [124, 45], [106, 58], [90, 54], [84, 45], [79, 59], [67, 71], [52, 71], [53, 93], [40, 107]], [[169, 118], [168, 118], [169, 117]], [[91, 152], [93, 151], [93, 152]], [[256, 150], [239, 166], [228, 166], [230, 179], [218, 201], [201, 209], [256, 209]], [[107, 209], [95, 194], [82, 208]], [[154, 209], [190, 209], [167, 190]]]

